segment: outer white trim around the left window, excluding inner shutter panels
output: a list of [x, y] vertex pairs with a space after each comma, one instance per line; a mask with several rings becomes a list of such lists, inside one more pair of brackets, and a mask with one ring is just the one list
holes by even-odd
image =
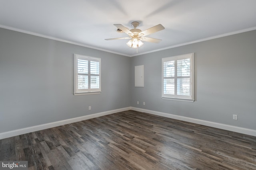
[[[78, 80], [77, 80], [77, 67], [78, 67], [78, 59], [82, 59], [82, 60], [87, 60], [88, 62], [90, 61], [98, 61], [100, 63], [100, 88], [88, 88], [88, 89], [84, 89], [84, 90], [80, 90], [77, 88], [78, 86]], [[88, 76], [90, 76], [90, 71], [88, 71]], [[90, 79], [89, 82], [90, 83]], [[90, 86], [89, 86], [90, 87]], [[78, 55], [78, 54], [74, 54], [74, 95], [86, 95], [86, 94], [100, 94], [101, 93], [101, 59], [100, 58], [96, 58], [96, 57], [90, 57], [90, 56], [85, 56], [85, 55]]]

